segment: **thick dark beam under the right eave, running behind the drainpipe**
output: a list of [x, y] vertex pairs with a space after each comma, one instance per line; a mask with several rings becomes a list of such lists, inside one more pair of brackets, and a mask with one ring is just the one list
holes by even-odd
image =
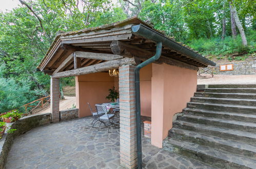
[[[119, 41], [119, 40], [113, 40], [110, 47], [113, 54], [121, 55], [124, 57], [139, 57], [142, 60], [146, 60], [155, 54], [148, 50], [123, 43], [122, 41]], [[187, 69], [196, 70], [196, 71], [199, 69], [196, 66], [189, 65], [189, 64], [186, 64], [185, 62], [172, 59], [170, 57], [166, 57], [163, 55], [161, 55], [161, 57], [158, 60], [156, 60], [155, 63], [157, 64], [166, 63], [168, 65], [178, 66], [181, 68], [187, 68]]]

